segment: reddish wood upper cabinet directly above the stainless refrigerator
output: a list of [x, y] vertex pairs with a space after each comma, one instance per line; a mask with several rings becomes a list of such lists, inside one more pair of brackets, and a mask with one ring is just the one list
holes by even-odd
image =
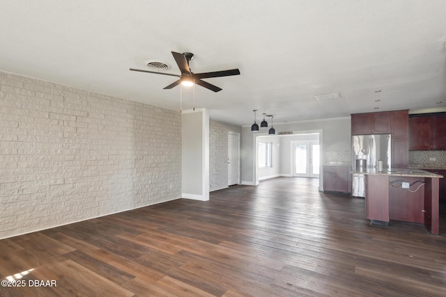
[[351, 115], [351, 134], [390, 134], [392, 132], [392, 113], [355, 113]]

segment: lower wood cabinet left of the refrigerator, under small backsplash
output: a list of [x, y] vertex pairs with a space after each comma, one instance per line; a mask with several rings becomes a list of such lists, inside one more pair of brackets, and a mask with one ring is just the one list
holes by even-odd
[[348, 166], [323, 166], [323, 191], [351, 193], [351, 173]]

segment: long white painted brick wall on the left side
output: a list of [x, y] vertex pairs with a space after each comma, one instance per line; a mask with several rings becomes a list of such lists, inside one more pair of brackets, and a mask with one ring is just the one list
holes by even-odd
[[180, 113], [0, 72], [0, 238], [180, 195]]

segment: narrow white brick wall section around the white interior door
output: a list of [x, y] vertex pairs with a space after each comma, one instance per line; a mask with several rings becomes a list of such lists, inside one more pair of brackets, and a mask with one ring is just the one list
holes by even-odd
[[228, 133], [241, 134], [241, 127], [209, 120], [209, 190], [228, 187]]

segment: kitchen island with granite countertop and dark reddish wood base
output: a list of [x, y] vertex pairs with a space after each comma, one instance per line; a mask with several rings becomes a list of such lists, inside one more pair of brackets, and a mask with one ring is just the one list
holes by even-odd
[[431, 234], [439, 234], [438, 185], [443, 175], [420, 169], [352, 173], [365, 175], [365, 213], [371, 225], [387, 227], [390, 220], [401, 220], [422, 223]]

